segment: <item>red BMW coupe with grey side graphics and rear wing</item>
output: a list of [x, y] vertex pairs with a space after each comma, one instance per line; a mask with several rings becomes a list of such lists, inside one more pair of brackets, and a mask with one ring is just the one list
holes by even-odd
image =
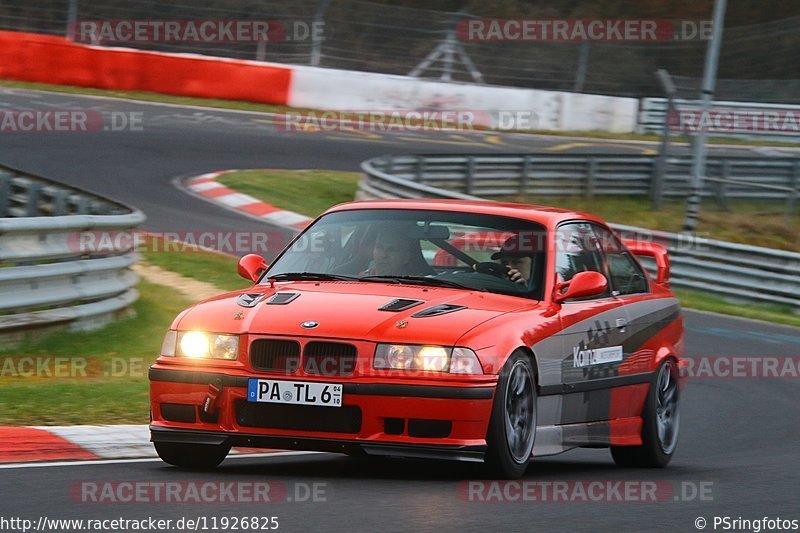
[[150, 368], [167, 463], [214, 467], [247, 446], [482, 461], [513, 478], [577, 447], [642, 467], [675, 451], [683, 321], [667, 254], [596, 217], [353, 202], [239, 273], [253, 285], [182, 312]]

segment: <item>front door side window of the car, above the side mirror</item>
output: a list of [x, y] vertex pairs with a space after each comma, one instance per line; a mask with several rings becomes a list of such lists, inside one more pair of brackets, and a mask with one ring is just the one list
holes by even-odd
[[556, 273], [560, 281], [569, 281], [578, 272], [587, 270], [605, 275], [600, 243], [590, 224], [571, 223], [559, 226], [555, 245]]

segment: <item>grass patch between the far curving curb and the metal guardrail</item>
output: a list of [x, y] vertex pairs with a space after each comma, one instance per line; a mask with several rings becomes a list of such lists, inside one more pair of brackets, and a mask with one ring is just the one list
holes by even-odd
[[244, 170], [217, 181], [281, 209], [316, 217], [332, 205], [351, 202], [360, 174], [333, 170]]

